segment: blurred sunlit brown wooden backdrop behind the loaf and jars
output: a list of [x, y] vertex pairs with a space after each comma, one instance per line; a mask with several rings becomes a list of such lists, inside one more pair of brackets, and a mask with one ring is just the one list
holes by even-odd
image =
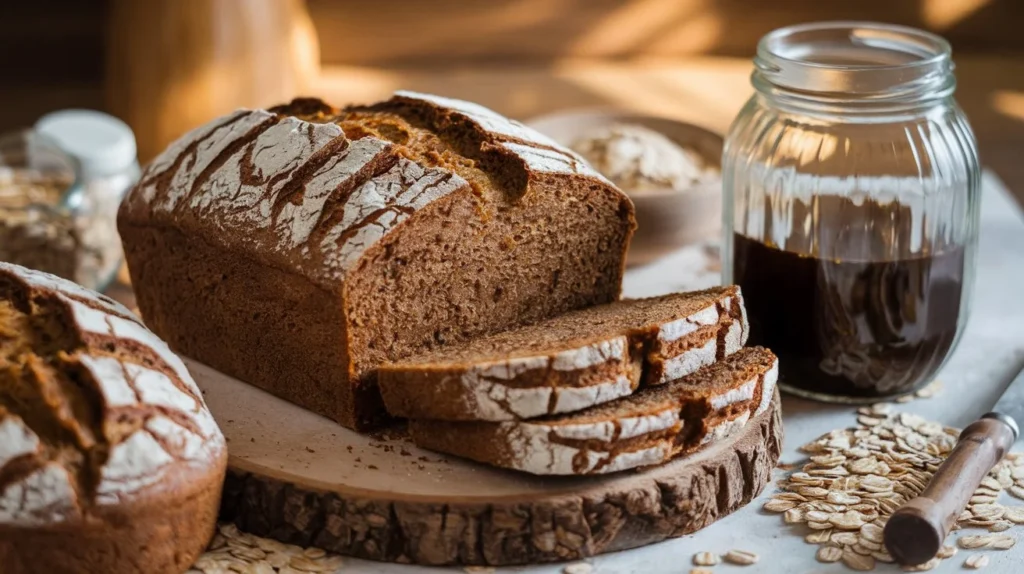
[[614, 105], [723, 132], [767, 32], [902, 24], [952, 43], [983, 163], [1024, 198], [1020, 0], [34, 0], [0, 13], [0, 131], [103, 109], [128, 122], [143, 163], [239, 106], [398, 88], [519, 119]]

